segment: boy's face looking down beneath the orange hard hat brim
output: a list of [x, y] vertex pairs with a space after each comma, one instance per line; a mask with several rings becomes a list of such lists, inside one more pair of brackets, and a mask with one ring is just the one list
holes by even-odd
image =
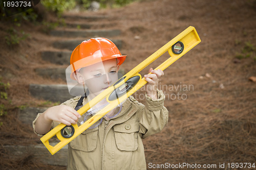
[[118, 69], [116, 59], [105, 60], [83, 67], [78, 72], [77, 81], [85, 84], [90, 94], [96, 96], [118, 80]]

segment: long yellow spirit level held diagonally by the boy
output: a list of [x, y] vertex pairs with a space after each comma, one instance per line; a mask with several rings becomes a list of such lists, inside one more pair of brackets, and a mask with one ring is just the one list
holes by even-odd
[[[147, 81], [145, 81], [144, 78], [141, 78], [141, 75], [138, 73], [139, 71], [144, 69], [147, 65], [149, 65], [158, 57], [160, 57], [168, 51], [170, 57], [167, 60], [165, 60], [162, 64], [160, 64], [157, 68], [155, 68], [164, 70], [165, 68], [173, 64], [176, 60], [178, 60], [181, 56], [186, 54], [189, 50], [191, 50], [191, 48], [196, 46], [199, 42], [201, 42], [201, 40], [197, 34], [196, 29], [191, 26], [188, 27], [174, 39], [170, 40], [168, 43], [162, 46], [150, 57], [148, 57], [135, 68], [133, 68], [131, 71], [129, 71], [116, 83], [102, 91], [93, 100], [91, 100], [89, 103], [87, 103], [77, 111], [80, 115], [82, 115], [86, 113], [91, 107], [95, 106], [98, 102], [100, 102], [103, 99], [106, 99], [106, 101], [109, 104], [106, 105], [103, 109], [101, 109], [98, 113], [96, 113], [94, 116], [92, 116], [79, 127], [78, 125], [73, 124], [71, 126], [59, 124], [46, 135], [41, 137], [40, 140], [42, 141], [42, 143], [45, 144], [46, 148], [50, 151], [52, 155], [55, 154], [62, 147], [68, 144], [71, 140], [73, 140], [83, 131], [85, 131], [94, 123], [96, 123], [97, 120], [103, 117], [106, 113], [111, 111], [118, 104], [123, 102], [130, 95], [132, 95], [143, 85], [145, 85]], [[49, 139], [51, 139], [55, 135], [60, 140], [60, 142], [52, 146], [49, 144]]]

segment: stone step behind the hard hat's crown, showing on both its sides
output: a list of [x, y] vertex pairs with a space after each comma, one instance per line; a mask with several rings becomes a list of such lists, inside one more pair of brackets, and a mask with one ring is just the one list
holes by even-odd
[[[67, 49], [67, 50], [73, 51], [75, 49], [75, 47], [77, 45], [79, 45], [84, 40], [86, 40], [86, 39], [55, 41], [55, 42], [53, 42], [52, 46], [54, 48]], [[116, 44], [116, 46], [118, 47], [119, 50], [122, 48], [122, 40], [111, 39], [111, 41]]]

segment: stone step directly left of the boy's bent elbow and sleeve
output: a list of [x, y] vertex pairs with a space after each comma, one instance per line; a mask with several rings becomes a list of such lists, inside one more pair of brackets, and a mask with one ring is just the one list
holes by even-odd
[[47, 108], [36, 108], [36, 107], [27, 107], [20, 109], [18, 113], [18, 119], [27, 125], [32, 127], [32, 122], [36, 118], [37, 113], [43, 113]]

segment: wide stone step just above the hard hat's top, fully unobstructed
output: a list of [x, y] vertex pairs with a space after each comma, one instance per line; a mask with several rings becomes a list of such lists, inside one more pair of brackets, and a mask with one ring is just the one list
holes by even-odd
[[50, 35], [57, 37], [113, 37], [121, 34], [120, 30], [52, 30]]

